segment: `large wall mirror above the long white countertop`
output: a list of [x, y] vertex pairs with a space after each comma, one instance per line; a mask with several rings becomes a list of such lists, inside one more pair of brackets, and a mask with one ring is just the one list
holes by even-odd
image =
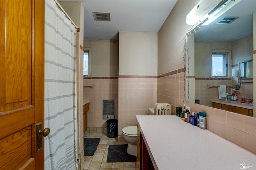
[[[238, 93], [238, 101], [242, 95], [253, 99], [253, 77], [250, 77], [250, 80], [248, 78], [245, 80], [244, 77], [232, 76], [232, 69], [238, 70], [242, 65], [239, 63], [244, 63], [244, 69], [247, 67], [246, 64], [250, 64], [250, 62], [245, 62], [245, 59], [253, 55], [255, 6], [256, 0], [241, 0], [210, 24], [202, 25], [198, 22], [198, 27], [194, 25], [190, 29], [187, 35], [189, 63], [186, 59], [186, 66], [190, 70], [186, 75], [188, 77], [186, 87], [190, 87], [186, 93], [187, 102], [212, 107], [211, 100], [219, 99], [218, 86], [226, 85], [226, 92], [231, 94], [240, 81], [242, 84], [240, 93]], [[226, 54], [226, 67], [222, 66], [222, 71], [225, 71], [224, 76], [212, 75], [212, 52]], [[252, 65], [250, 64], [250, 73], [248, 73], [249, 70], [248, 72], [244, 70], [245, 74], [253, 75]]]

